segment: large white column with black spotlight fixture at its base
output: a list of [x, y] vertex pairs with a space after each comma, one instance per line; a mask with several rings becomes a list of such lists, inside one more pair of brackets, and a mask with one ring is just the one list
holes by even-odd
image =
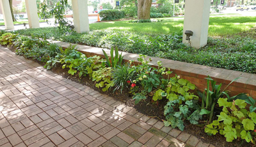
[[188, 0], [185, 2], [185, 17], [183, 27], [182, 43], [188, 43], [185, 31], [193, 32], [190, 37], [191, 46], [200, 48], [207, 44], [209, 16], [211, 1], [209, 0]]

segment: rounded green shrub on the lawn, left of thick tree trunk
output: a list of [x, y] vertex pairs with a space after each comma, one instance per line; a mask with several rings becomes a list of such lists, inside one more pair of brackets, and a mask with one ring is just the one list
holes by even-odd
[[124, 11], [121, 10], [104, 10], [99, 13], [102, 20], [117, 20], [124, 18]]

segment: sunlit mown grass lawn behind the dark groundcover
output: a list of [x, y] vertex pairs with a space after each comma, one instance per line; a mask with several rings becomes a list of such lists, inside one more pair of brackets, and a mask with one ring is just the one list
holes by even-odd
[[[143, 32], [150, 34], [172, 34], [181, 32], [183, 18], [158, 18], [162, 22], [152, 23], [129, 23], [128, 21], [100, 22], [90, 24], [91, 30], [118, 30]], [[249, 31], [256, 27], [255, 17], [210, 17], [209, 36], [225, 36]]]

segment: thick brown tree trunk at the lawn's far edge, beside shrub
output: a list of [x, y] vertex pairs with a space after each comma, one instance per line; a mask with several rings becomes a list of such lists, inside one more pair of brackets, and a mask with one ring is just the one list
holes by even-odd
[[145, 20], [150, 18], [150, 7], [152, 0], [138, 0], [138, 19]]

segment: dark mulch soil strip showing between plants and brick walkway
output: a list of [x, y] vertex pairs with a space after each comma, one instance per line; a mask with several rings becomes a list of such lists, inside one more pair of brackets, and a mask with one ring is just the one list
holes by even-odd
[[[14, 48], [10, 48], [12, 52], [15, 51]], [[34, 60], [35, 62], [38, 62], [37, 60]], [[44, 65], [42, 62], [38, 62], [42, 66]], [[112, 90], [109, 90], [108, 92], [102, 92], [99, 88], [95, 87], [95, 81], [90, 80], [88, 76], [79, 78], [78, 74], [75, 74], [72, 76], [71, 74], [68, 74], [68, 68], [62, 69], [60, 64], [57, 64], [56, 67], [51, 69], [52, 72], [59, 74], [63, 76], [64, 78], [67, 78], [72, 81], [76, 81], [77, 83], [81, 83], [83, 85], [86, 85], [88, 87], [93, 88], [94, 90], [99, 91], [102, 94], [107, 94], [114, 99], [118, 101], [124, 102], [125, 105], [131, 106], [137, 109], [140, 113], [143, 113], [144, 115], [150, 116], [152, 118], [156, 118], [157, 120], [164, 120], [164, 106], [167, 101], [159, 101], [159, 102], [152, 102], [151, 99], [147, 99], [146, 101], [142, 101], [137, 105], [134, 105], [134, 101], [132, 101], [132, 95], [129, 94], [129, 91], [123, 91], [122, 94], [120, 92], [110, 92]], [[200, 122], [202, 126], [204, 126], [204, 121]], [[221, 136], [220, 134], [217, 134], [215, 136], [208, 136], [204, 132], [204, 127], [200, 127], [199, 125], [192, 125], [189, 122], [185, 122], [185, 129], [184, 132], [187, 132], [188, 134], [191, 134], [193, 136], [198, 137], [200, 141], [203, 141], [204, 143], [211, 143], [216, 147], [233, 147], [233, 146], [243, 146], [243, 147], [250, 147], [253, 146], [251, 143], [246, 143], [246, 141], [233, 141], [232, 143], [228, 143], [226, 141], [226, 138]]]

